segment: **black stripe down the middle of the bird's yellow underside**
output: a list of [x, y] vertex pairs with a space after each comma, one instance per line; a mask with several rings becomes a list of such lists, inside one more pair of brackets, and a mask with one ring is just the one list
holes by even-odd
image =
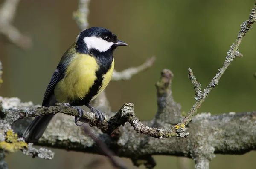
[[94, 56], [97, 56], [96, 59], [99, 64], [99, 69], [95, 72], [96, 73], [96, 80], [94, 81], [93, 86], [90, 88], [87, 95], [84, 97], [84, 99], [77, 99], [73, 103], [70, 103], [72, 106], [81, 106], [81, 105], [87, 105], [90, 103], [92, 98], [98, 94], [99, 89], [102, 86], [103, 76], [108, 72], [108, 70], [111, 68], [112, 62], [113, 62], [113, 53], [112, 52], [104, 52], [104, 54], [94, 51]]

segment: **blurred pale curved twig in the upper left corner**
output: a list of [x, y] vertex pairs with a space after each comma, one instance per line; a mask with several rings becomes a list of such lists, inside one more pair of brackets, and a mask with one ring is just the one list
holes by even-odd
[[20, 48], [27, 49], [31, 46], [29, 37], [20, 33], [12, 26], [12, 20], [15, 16], [17, 5], [20, 0], [6, 0], [0, 8], [0, 33]]

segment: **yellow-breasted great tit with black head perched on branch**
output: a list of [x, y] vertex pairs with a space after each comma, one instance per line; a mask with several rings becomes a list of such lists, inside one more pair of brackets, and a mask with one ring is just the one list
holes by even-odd
[[[55, 106], [59, 102], [75, 107], [78, 110], [75, 123], [81, 126], [78, 121], [84, 110], [77, 106], [85, 105], [96, 115], [97, 123], [102, 123], [104, 113], [90, 103], [111, 80], [114, 50], [126, 45], [106, 28], [91, 27], [80, 32], [73, 45], [61, 57], [44, 93], [42, 106]], [[53, 116], [49, 114], [35, 117], [23, 133], [23, 138], [29, 142], [37, 142]]]

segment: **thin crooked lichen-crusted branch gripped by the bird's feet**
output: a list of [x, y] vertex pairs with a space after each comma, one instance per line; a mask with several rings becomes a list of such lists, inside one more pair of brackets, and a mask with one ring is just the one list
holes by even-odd
[[[0, 97], [1, 99], [2, 97]], [[3, 98], [5, 99], [5, 98]], [[6, 100], [6, 99], [5, 99]], [[37, 117], [41, 115], [49, 115], [56, 114], [62, 112], [66, 115], [77, 116], [78, 112], [76, 108], [65, 106], [62, 103], [57, 103], [57, 106], [49, 106], [49, 107], [37, 107], [37, 108], [20, 108], [20, 109], [2, 109], [2, 117], [12, 121], [13, 123], [17, 120], [26, 118], [26, 117]], [[90, 125], [97, 126], [96, 124], [96, 116], [91, 112], [84, 112], [81, 117], [82, 122], [89, 123]], [[109, 118], [105, 117], [102, 125], [97, 126], [102, 132], [111, 134], [115, 129], [119, 126], [125, 124], [125, 122], [129, 122], [131, 126], [134, 127], [136, 132], [140, 132], [151, 137], [156, 138], [168, 138], [168, 137], [182, 137], [183, 135], [179, 135], [176, 132], [176, 129], [172, 127], [172, 129], [157, 129], [144, 125], [140, 122], [138, 117], [134, 113], [133, 104], [125, 103], [122, 108], [117, 112], [113, 117]]]

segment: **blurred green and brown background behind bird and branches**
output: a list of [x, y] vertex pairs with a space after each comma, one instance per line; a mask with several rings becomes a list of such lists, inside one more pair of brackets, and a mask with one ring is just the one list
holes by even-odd
[[[187, 77], [187, 68], [192, 68], [203, 87], [207, 86], [222, 66], [253, 4], [253, 0], [92, 0], [90, 26], [106, 27], [128, 43], [115, 52], [116, 70], [137, 66], [153, 55], [157, 57], [151, 69], [129, 81], [110, 83], [106, 92], [112, 110], [132, 102], [140, 119], [154, 117], [157, 110], [154, 84], [160, 78], [160, 71], [168, 68], [175, 75], [173, 96], [181, 103], [183, 111], [189, 111], [195, 102], [195, 92]], [[79, 33], [72, 20], [72, 12], [76, 9], [76, 0], [20, 1], [14, 25], [32, 38], [33, 46], [24, 51], [0, 37], [4, 82], [1, 96], [41, 104], [55, 67]], [[244, 57], [233, 61], [198, 112], [221, 114], [256, 110], [255, 37], [253, 26], [239, 47]], [[88, 161], [102, 159], [98, 155], [54, 151], [53, 160], [32, 159], [21, 152], [6, 155], [9, 169], [84, 169], [88, 168]], [[254, 168], [255, 158], [256, 152], [217, 155], [210, 168]], [[155, 156], [155, 159], [156, 169], [178, 169], [177, 157]], [[108, 163], [105, 158], [100, 161]], [[130, 160], [125, 161], [136, 168]], [[188, 163], [189, 168], [194, 168], [192, 160]]]

